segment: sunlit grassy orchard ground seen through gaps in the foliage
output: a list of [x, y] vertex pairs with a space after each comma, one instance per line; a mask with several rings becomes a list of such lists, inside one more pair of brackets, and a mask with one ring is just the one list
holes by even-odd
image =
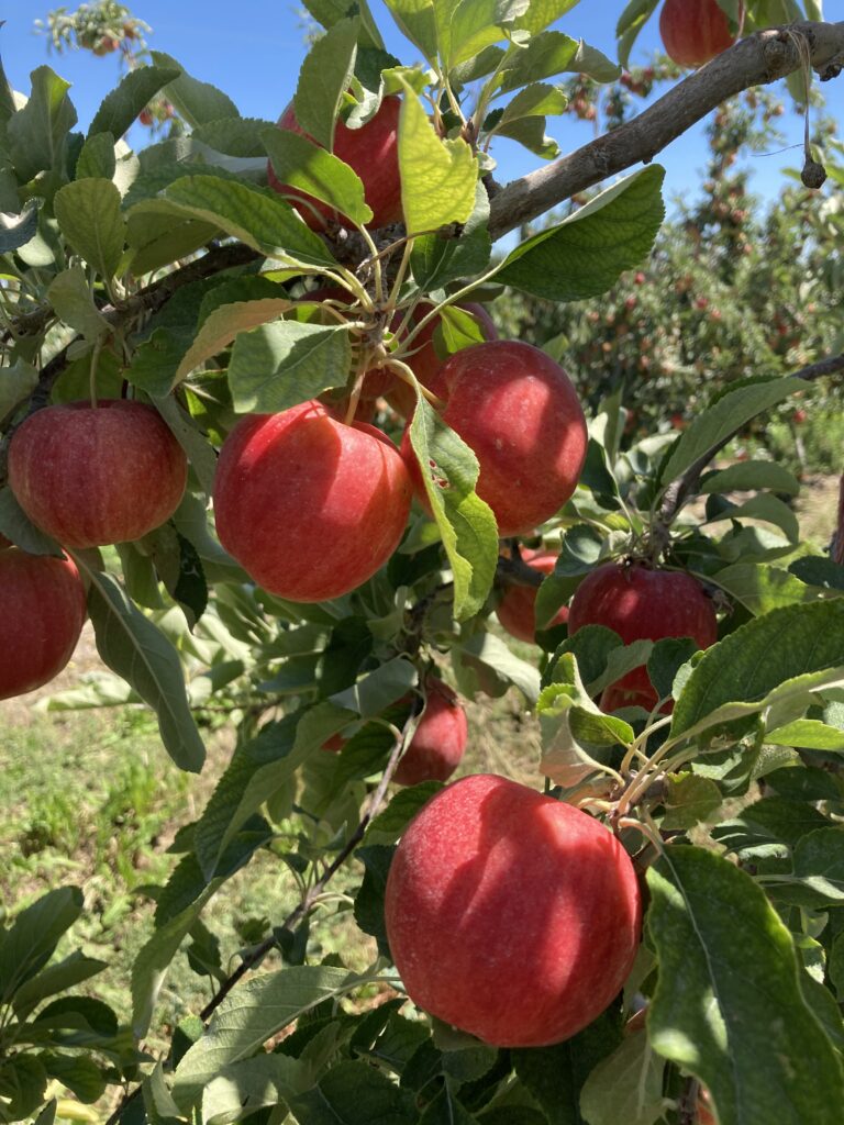
[[[837, 477], [811, 476], [796, 502], [801, 539], [818, 549], [834, 528], [837, 490]], [[512, 638], [509, 644], [519, 655], [529, 655], [530, 646]], [[233, 737], [231, 726], [206, 728], [208, 763], [197, 783], [167, 758], [145, 708], [46, 709], [52, 695], [78, 686], [86, 673], [102, 667], [88, 623], [61, 676], [26, 696], [0, 702], [0, 819], [6, 826], [0, 892], [2, 902], [15, 903], [17, 910], [57, 882], [82, 886], [86, 911], [74, 942], [109, 963], [97, 979], [97, 994], [127, 1017], [125, 981], [152, 932], [153, 903], [144, 888], [163, 882], [174, 866], [176, 857], [167, 849], [213, 792]], [[467, 712], [468, 750], [456, 776], [484, 771], [535, 784], [539, 732], [535, 720], [521, 713], [514, 690], [500, 700], [470, 702]], [[753, 793], [745, 801], [752, 799]], [[206, 918], [210, 928], [235, 933], [242, 947], [260, 940], [268, 919], [284, 916], [297, 901], [294, 884], [279, 874], [279, 866], [269, 852], [259, 853], [251, 874], [234, 876], [230, 893], [215, 900]], [[345, 873], [339, 892], [357, 885], [361, 873], [356, 868]], [[360, 968], [374, 944], [350, 914], [317, 921], [311, 940], [315, 953], [342, 950], [347, 963]], [[225, 965], [237, 951], [222, 952]], [[212, 994], [212, 983], [188, 971], [181, 952], [161, 997], [167, 1023], [195, 1011]]]

